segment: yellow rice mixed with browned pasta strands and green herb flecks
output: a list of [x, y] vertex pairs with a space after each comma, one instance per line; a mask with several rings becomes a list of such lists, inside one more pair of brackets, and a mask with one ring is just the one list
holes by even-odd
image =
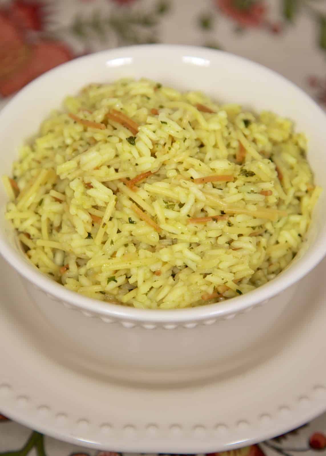
[[321, 192], [290, 120], [131, 79], [66, 98], [3, 181], [6, 218], [43, 274], [153, 309], [272, 280]]

